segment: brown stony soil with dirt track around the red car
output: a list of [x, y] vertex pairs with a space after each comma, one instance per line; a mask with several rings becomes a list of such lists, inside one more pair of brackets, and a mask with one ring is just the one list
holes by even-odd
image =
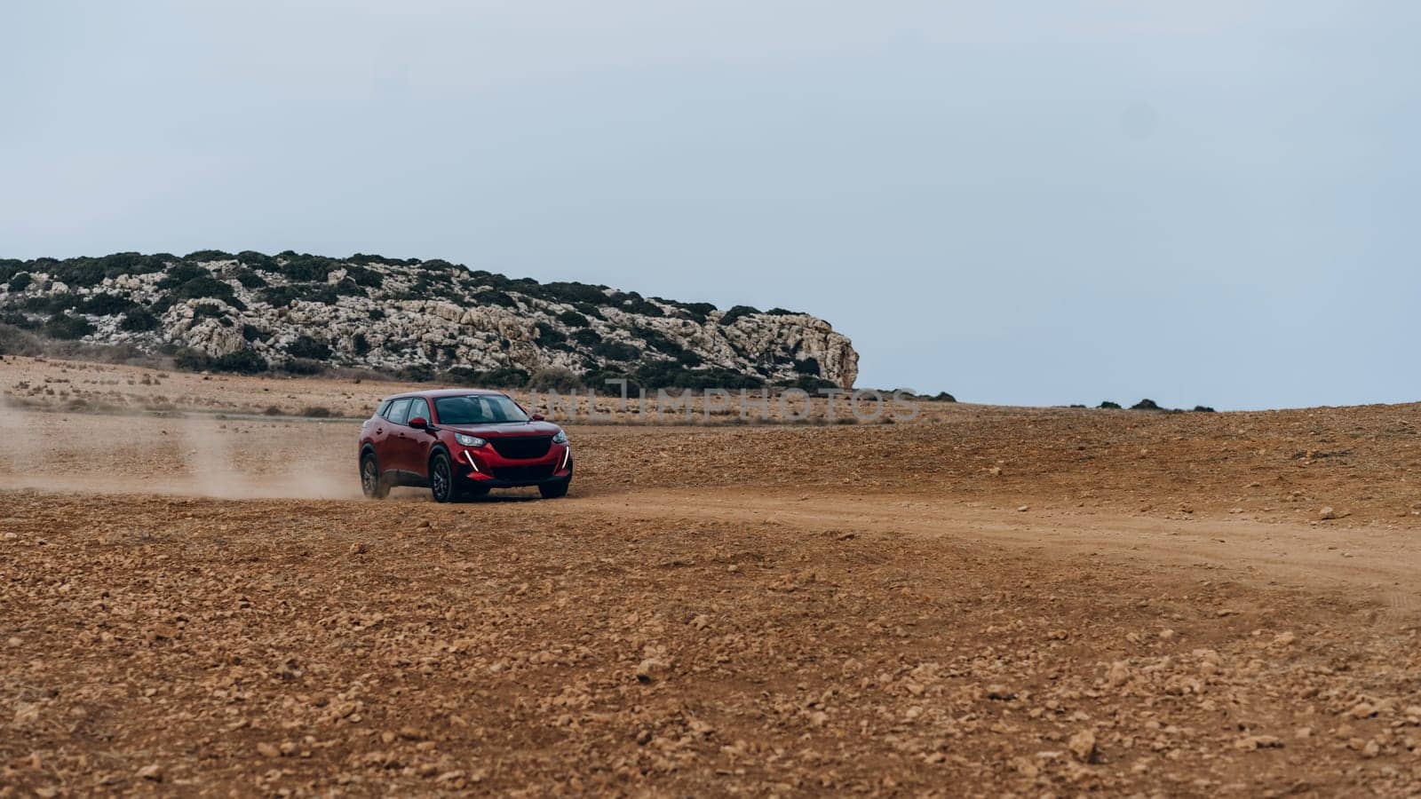
[[452, 506], [348, 421], [3, 415], [0, 795], [1421, 790], [1418, 405], [573, 427]]

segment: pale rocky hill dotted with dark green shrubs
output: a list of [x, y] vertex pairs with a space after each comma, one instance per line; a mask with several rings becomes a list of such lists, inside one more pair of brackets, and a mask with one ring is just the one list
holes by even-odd
[[851, 387], [809, 314], [539, 283], [443, 260], [203, 250], [0, 260], [0, 324], [225, 371], [354, 367], [496, 385]]

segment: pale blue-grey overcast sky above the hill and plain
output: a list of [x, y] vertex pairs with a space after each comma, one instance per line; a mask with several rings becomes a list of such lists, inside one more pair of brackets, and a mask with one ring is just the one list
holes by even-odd
[[0, 257], [442, 257], [860, 385], [1421, 400], [1421, 3], [10, 3]]

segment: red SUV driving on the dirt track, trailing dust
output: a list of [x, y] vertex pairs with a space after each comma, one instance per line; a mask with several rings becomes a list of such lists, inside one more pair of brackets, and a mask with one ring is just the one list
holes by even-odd
[[551, 499], [573, 482], [573, 448], [563, 428], [507, 394], [414, 391], [382, 401], [361, 428], [360, 482], [372, 499], [396, 485], [428, 486], [436, 502], [514, 486]]

